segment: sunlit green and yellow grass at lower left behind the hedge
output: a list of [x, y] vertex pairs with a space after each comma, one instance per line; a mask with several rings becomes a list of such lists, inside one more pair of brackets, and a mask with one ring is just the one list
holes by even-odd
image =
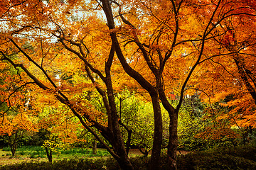
[[[5, 164], [16, 164], [21, 162], [48, 162], [46, 150], [40, 146], [23, 146], [18, 147], [15, 157], [11, 157], [11, 149], [4, 147], [0, 150], [0, 166]], [[92, 154], [92, 149], [72, 148], [68, 150], [60, 150], [59, 153], [53, 152], [53, 161], [60, 159], [73, 158], [100, 158], [109, 157], [110, 154], [105, 149], [97, 149], [97, 154]]]

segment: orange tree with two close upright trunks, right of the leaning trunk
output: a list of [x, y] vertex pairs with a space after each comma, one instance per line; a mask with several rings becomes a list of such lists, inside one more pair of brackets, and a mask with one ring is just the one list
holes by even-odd
[[[158, 98], [160, 98], [170, 115], [169, 167], [176, 169], [178, 111], [181, 108], [183, 95], [189, 89], [188, 81], [198, 65], [209, 60], [208, 55], [215, 55], [216, 49], [212, 44], [216, 38], [221, 38], [221, 35], [213, 35], [217, 26], [232, 16], [254, 16], [253, 9], [247, 10], [247, 4], [237, 1], [133, 1], [132, 4], [130, 1], [121, 3], [102, 0], [101, 2], [114, 49], [124, 71], [151, 96], [155, 118], [151, 168], [159, 169], [161, 109]], [[119, 11], [118, 14], [116, 14], [117, 11]], [[114, 19], [117, 16], [119, 16], [118, 23], [122, 23], [124, 27], [121, 31], [119, 28], [122, 27], [115, 26], [117, 24]], [[121, 32], [121, 38], [118, 37], [119, 32]], [[128, 63], [129, 54], [123, 48], [128, 43], [133, 45], [134, 53], [137, 52], [139, 55], [138, 61], [142, 61], [143, 72], [139, 72]], [[123, 47], [122, 44], [124, 44]], [[183, 67], [183, 73], [181, 71], [181, 75], [178, 75], [180, 84], [177, 86], [180, 99], [174, 108], [166, 97], [164, 74], [168, 73], [170, 68], [175, 68], [174, 64], [177, 63], [175, 60], [171, 62], [171, 59], [178, 55], [176, 52], [180, 52], [180, 60], [186, 57], [186, 64]], [[223, 53], [220, 52], [218, 56], [220, 55]]]

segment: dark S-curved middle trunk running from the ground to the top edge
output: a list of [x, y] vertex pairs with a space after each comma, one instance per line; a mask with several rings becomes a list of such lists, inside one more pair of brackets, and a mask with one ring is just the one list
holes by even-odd
[[[107, 25], [110, 30], [114, 29], [114, 17], [112, 13], [112, 8], [110, 1], [108, 0], [101, 0], [102, 1], [102, 8], [105, 12], [105, 16], [107, 18]], [[156, 88], [146, 81], [144, 77], [142, 77], [139, 72], [136, 72], [132, 67], [129, 66], [127, 60], [125, 59], [119, 42], [117, 40], [117, 34], [114, 32], [110, 32], [110, 37], [112, 40], [112, 45], [114, 45], [114, 50], [117, 54], [119, 61], [124, 68], [124, 71], [132, 78], [134, 78], [146, 91], [149, 92], [154, 108], [154, 142], [153, 142], [153, 149], [151, 154], [151, 164], [149, 169], [159, 169], [160, 167], [160, 154], [161, 154], [161, 143], [162, 143], [162, 120], [161, 120], [161, 108], [159, 104], [159, 96]]]

